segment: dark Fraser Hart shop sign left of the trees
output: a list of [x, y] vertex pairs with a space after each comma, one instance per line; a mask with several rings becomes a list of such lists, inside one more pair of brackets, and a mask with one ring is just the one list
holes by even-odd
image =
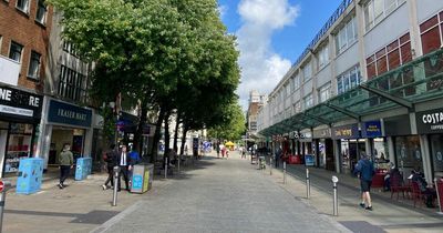
[[92, 111], [76, 105], [51, 100], [48, 122], [91, 128]]

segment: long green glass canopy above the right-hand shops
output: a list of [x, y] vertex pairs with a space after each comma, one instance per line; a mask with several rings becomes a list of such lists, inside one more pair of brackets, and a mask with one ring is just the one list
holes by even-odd
[[419, 102], [443, 98], [443, 49], [423, 55], [357, 88], [291, 115], [259, 133], [269, 136], [332, 125], [394, 108], [415, 110]]

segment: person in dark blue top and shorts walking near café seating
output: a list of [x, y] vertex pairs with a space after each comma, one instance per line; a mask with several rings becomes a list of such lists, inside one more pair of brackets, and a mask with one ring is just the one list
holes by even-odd
[[371, 202], [371, 184], [372, 176], [375, 174], [373, 163], [369, 160], [367, 154], [362, 154], [362, 158], [356, 164], [354, 172], [360, 179], [361, 186], [361, 203], [360, 206], [368, 211], [372, 211]]

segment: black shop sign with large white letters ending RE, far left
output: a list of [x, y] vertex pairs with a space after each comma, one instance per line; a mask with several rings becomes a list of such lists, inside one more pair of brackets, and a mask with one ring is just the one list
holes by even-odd
[[40, 119], [42, 102], [42, 95], [0, 87], [0, 113]]

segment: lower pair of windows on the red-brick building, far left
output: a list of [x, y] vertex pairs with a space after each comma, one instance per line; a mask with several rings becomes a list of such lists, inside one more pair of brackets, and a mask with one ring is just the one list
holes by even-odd
[[[23, 49], [24, 47], [22, 44], [11, 41], [11, 45], [9, 48], [9, 58], [21, 63]], [[40, 67], [41, 67], [41, 54], [32, 50], [28, 67], [28, 78], [39, 80]]]

